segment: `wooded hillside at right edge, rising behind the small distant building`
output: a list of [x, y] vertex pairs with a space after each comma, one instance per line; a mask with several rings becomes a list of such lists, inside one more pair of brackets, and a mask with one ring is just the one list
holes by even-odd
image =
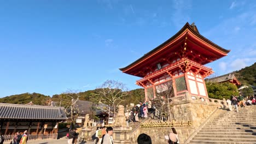
[[249, 84], [256, 86], [256, 63], [241, 70], [234, 71], [234, 73], [242, 85]]

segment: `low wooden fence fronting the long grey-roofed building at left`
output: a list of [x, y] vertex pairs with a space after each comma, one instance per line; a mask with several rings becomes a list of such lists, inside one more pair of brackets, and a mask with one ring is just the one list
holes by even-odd
[[[48, 140], [48, 139], [57, 139], [58, 134], [38, 134], [38, 135], [28, 135], [27, 139], [28, 141], [30, 140]], [[3, 135], [4, 137], [4, 142], [10, 142], [11, 140], [13, 140], [14, 135]]]

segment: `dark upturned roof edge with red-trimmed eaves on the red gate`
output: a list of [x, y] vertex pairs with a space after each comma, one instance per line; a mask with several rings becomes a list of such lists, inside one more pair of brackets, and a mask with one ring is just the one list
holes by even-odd
[[[179, 38], [183, 37], [185, 34], [186, 30], [189, 30], [191, 33], [193, 33], [197, 38], [199, 38], [200, 40], [204, 41], [208, 46], [212, 47], [211, 49], [214, 51], [219, 51], [220, 53], [223, 53], [223, 56], [227, 55], [228, 52], [230, 52], [230, 50], [226, 50], [223, 49], [222, 47], [214, 44], [212, 41], [208, 40], [207, 38], [203, 37], [198, 31], [195, 31], [187, 22], [184, 27], [175, 35], [173, 35], [173, 37], [171, 37], [170, 39], [166, 40], [164, 43], [162, 43], [161, 45], [159, 45], [158, 47], [156, 47], [155, 49], [153, 49], [152, 51], [146, 53], [144, 56], [142, 56], [141, 58], [137, 59], [135, 62], [131, 63], [130, 65], [127, 65], [124, 68], [120, 68], [121, 71], [123, 71], [123, 73], [126, 74], [131, 74], [129, 72], [129, 70], [131, 70], [132, 68], [136, 67], [138, 64], [146, 61], [147, 59], [149, 59], [150, 57], [154, 56], [155, 53], [161, 51], [162, 49], [165, 49], [168, 45], [170, 45], [171, 43], [173, 43], [173, 41], [177, 41]], [[223, 57], [223, 56], [219, 56]], [[218, 58], [216, 58], [218, 59]], [[133, 75], [133, 74], [131, 74]], [[136, 76], [140, 76], [143, 77], [143, 75], [136, 75]]]

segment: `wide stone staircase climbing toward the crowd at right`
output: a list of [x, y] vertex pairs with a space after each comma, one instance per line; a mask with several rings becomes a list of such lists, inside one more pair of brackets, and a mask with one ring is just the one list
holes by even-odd
[[256, 143], [256, 105], [214, 115], [189, 143]]

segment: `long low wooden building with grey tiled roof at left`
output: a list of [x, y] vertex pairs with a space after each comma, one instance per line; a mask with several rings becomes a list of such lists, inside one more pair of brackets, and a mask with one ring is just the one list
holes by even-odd
[[31, 135], [54, 134], [66, 121], [63, 107], [0, 103], [0, 131], [4, 135], [28, 131]]

